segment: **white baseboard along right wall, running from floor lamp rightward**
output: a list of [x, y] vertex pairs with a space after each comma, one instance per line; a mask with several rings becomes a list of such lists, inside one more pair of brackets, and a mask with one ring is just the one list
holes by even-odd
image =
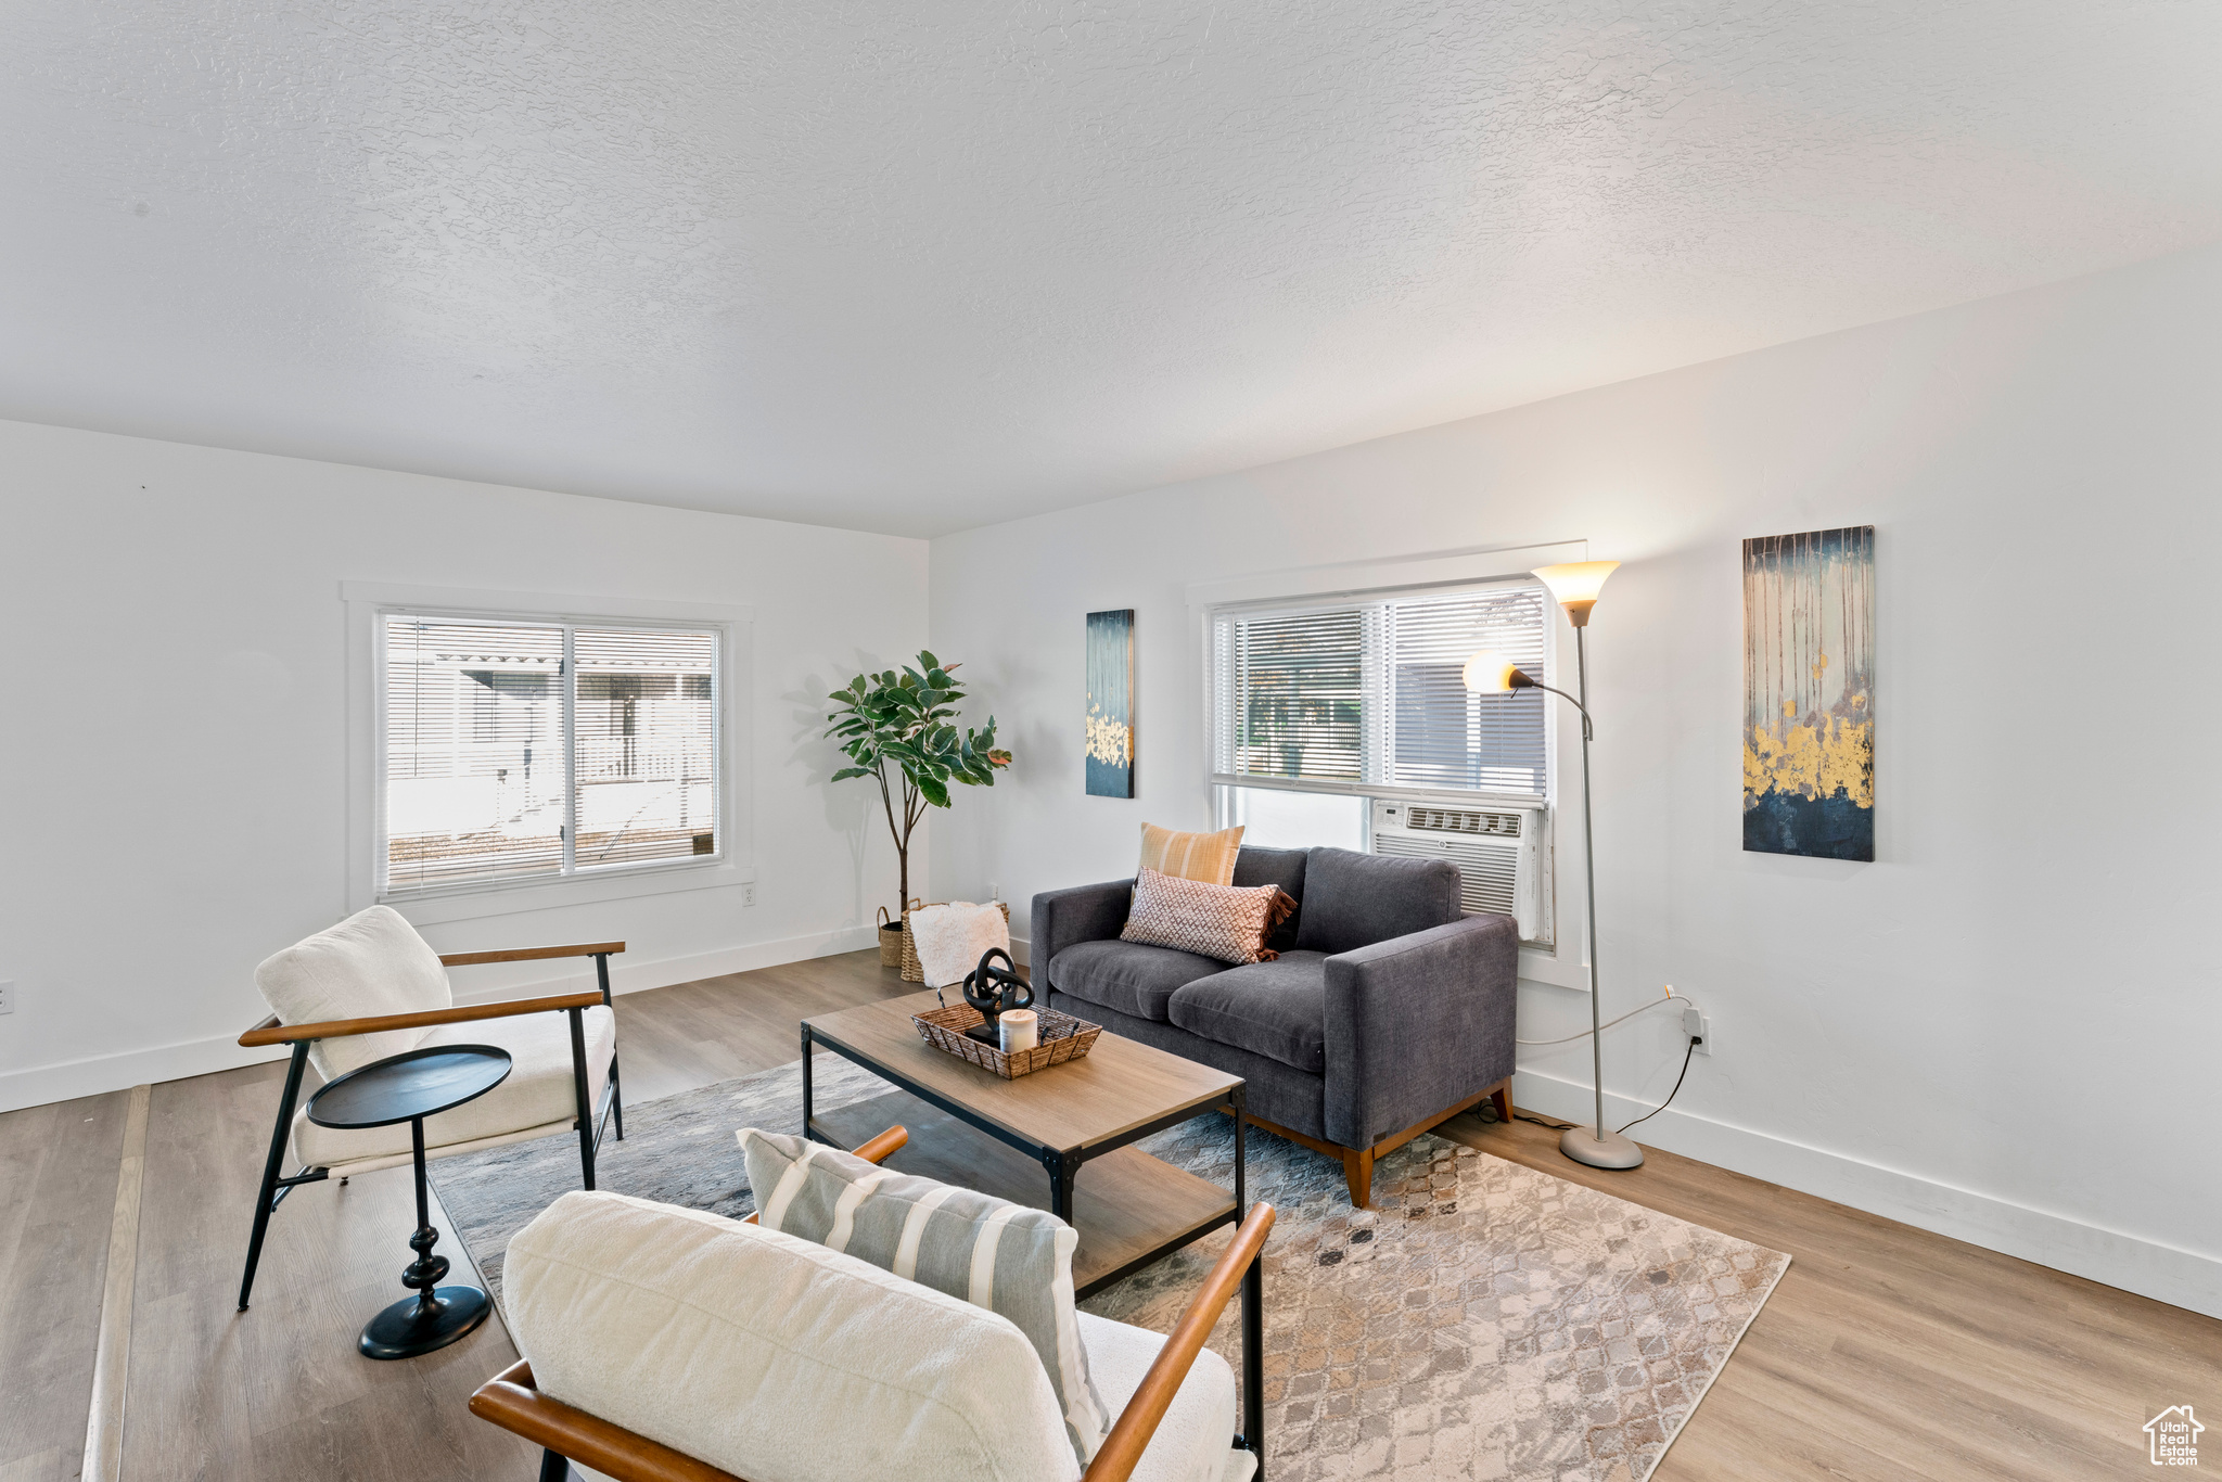
[[[1589, 1124], [1595, 1100], [1589, 1087], [1520, 1071], [1513, 1100], [1562, 1122]], [[1629, 1122], [1649, 1104], [1604, 1093], [1604, 1115]], [[1669, 1107], [1635, 1133], [1647, 1146], [1764, 1178], [1822, 1200], [1851, 1204], [1889, 1220], [2020, 1260], [2120, 1286], [2155, 1302], [2222, 1318], [2222, 1260], [2140, 1235], [2126, 1235], [2071, 1215], [2031, 1209], [1989, 1193], [1958, 1189], [1915, 1173], [1806, 1146], [1786, 1138], [1731, 1126]]]

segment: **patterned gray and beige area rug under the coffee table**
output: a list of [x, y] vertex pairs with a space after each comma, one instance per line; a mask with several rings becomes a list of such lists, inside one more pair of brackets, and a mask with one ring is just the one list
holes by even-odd
[[[822, 1107], [887, 1089], [818, 1058]], [[602, 1144], [600, 1184], [744, 1215], [733, 1131], [800, 1118], [798, 1064], [642, 1102], [624, 1142]], [[1222, 1118], [1142, 1146], [1229, 1182]], [[578, 1144], [429, 1171], [498, 1298], [509, 1238], [578, 1186]], [[1264, 1278], [1275, 1482], [1644, 1482], [1789, 1269], [1780, 1251], [1433, 1135], [1380, 1160], [1369, 1211], [1351, 1209], [1340, 1164], [1269, 1133], [1251, 1133], [1249, 1180], [1278, 1211]], [[1227, 1231], [1200, 1240], [1087, 1306], [1171, 1331], [1224, 1244]], [[1240, 1373], [1233, 1306], [1211, 1346]]]

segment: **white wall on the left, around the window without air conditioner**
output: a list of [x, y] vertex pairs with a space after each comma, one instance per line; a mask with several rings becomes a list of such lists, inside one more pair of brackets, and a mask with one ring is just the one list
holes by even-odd
[[[749, 607], [738, 887], [444, 920], [624, 938], [620, 987], [871, 944], [893, 858], [822, 698], [924, 642], [927, 544], [0, 422], [0, 1109], [251, 1055], [253, 967], [349, 909], [340, 584]], [[458, 969], [460, 995], [591, 973]], [[264, 1051], [267, 1055], [267, 1051]]]

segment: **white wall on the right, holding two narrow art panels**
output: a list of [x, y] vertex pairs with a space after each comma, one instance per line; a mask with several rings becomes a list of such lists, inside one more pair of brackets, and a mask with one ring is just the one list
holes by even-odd
[[[2222, 251], [933, 542], [933, 647], [1018, 762], [935, 895], [1133, 869], [1207, 820], [1184, 589], [1589, 540], [1607, 1015], [1715, 1024], [1642, 1138], [2222, 1315]], [[1878, 862], [1742, 851], [1740, 547], [1878, 527]], [[1138, 609], [1138, 789], [1082, 793], [1082, 613]], [[1571, 798], [1571, 793], [1569, 793]], [[1562, 904], [1575, 898], [1562, 893]], [[1524, 984], [1524, 1038], [1587, 995]], [[1669, 1015], [1607, 1035], [1662, 1100]], [[1582, 1047], [1515, 1095], [1587, 1120]]]

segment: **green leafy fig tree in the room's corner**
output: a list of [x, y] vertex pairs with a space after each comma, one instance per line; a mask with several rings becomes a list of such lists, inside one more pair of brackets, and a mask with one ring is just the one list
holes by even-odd
[[[873, 778], [887, 807], [887, 831], [895, 838], [898, 889], [895, 920], [911, 902], [911, 829], [929, 807], [949, 807], [949, 784], [995, 787], [995, 769], [1011, 764], [1009, 751], [995, 751], [995, 718], [980, 731], [958, 733], [955, 664], [918, 651], [918, 667], [902, 671], [860, 673], [829, 700], [827, 735], [840, 742], [853, 767], [833, 773], [835, 782]], [[895, 778], [887, 775], [889, 764]]]

